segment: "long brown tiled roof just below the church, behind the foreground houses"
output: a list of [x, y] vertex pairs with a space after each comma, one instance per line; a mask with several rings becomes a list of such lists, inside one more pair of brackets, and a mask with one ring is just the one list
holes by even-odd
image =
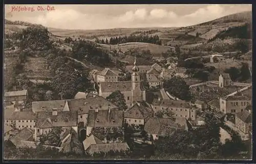
[[89, 110], [95, 110], [96, 108], [99, 111], [109, 110], [109, 107], [111, 110], [117, 108], [117, 106], [101, 96], [68, 100], [68, 105], [70, 111], [77, 111], [78, 114], [89, 113]]

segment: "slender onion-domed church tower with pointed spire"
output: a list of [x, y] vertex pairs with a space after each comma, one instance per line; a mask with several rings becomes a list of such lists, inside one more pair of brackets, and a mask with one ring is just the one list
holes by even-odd
[[139, 68], [136, 66], [136, 57], [134, 59], [134, 66], [132, 68], [132, 102], [141, 101], [140, 100], [140, 74]]

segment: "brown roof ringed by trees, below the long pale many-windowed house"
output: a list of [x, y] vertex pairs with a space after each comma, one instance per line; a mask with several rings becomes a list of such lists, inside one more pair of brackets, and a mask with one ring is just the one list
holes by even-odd
[[182, 125], [175, 123], [172, 119], [150, 118], [145, 123], [144, 129], [147, 133], [168, 135], [172, 134], [177, 129], [185, 129], [182, 120], [177, 120], [177, 122], [181, 122]]

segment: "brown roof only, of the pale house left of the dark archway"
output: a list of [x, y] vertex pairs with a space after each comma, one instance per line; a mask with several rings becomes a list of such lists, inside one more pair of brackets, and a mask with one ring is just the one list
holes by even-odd
[[77, 112], [60, 111], [54, 116], [52, 112], [38, 112], [36, 116], [36, 127], [50, 128], [56, 126], [77, 126]]

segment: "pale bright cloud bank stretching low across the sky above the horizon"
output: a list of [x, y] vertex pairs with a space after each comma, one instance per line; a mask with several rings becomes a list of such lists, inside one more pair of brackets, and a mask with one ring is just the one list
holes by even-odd
[[[77, 6], [76, 6], [77, 7]], [[57, 6], [55, 11], [34, 12], [34, 13], [11, 13], [10, 20], [28, 21], [42, 24], [51, 28], [60, 29], [110, 29], [110, 28], [139, 28], [150, 26], [187, 26], [210, 21], [228, 14], [247, 11], [248, 7], [243, 5], [207, 5], [201, 8], [185, 5], [179, 10], [189, 10], [190, 13], [178, 13], [172, 6], [170, 7], [140, 7], [135, 6], [118, 12], [117, 15], [108, 14], [110, 11], [90, 12], [87, 10], [77, 10], [75, 7]], [[118, 8], [118, 6], [117, 6]], [[196, 10], [194, 10], [196, 8]], [[101, 8], [103, 9], [103, 8]], [[114, 8], [113, 8], [114, 9]], [[95, 8], [96, 10], [96, 8]], [[119, 10], [120, 11], [120, 10]], [[9, 18], [8, 18], [9, 19]]]

